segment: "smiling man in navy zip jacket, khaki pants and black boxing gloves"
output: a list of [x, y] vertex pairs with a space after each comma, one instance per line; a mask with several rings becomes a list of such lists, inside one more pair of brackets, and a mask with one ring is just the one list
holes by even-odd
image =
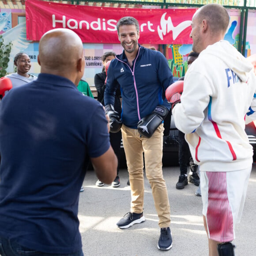
[[[117, 22], [117, 33], [124, 48], [111, 61], [104, 94], [105, 112], [117, 117], [114, 96], [120, 86], [123, 122], [121, 132], [131, 185], [131, 209], [117, 222], [120, 229], [145, 221], [143, 215], [143, 153], [146, 176], [151, 184], [158, 214], [158, 249], [172, 247], [170, 206], [162, 173], [163, 120], [170, 109], [162, 93], [173, 83], [173, 75], [162, 53], [139, 45], [139, 23], [133, 17]], [[114, 118], [112, 118], [112, 123]], [[111, 130], [110, 130], [111, 131]]]

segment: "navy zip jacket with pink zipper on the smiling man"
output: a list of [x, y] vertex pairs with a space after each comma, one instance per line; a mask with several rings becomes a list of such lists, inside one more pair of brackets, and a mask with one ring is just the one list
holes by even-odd
[[137, 129], [139, 120], [150, 114], [156, 106], [170, 104], [165, 95], [166, 88], [173, 83], [173, 74], [166, 57], [151, 49], [139, 45], [138, 54], [132, 68], [123, 51], [111, 61], [108, 69], [104, 94], [105, 105], [114, 105], [115, 91], [120, 85], [122, 95], [123, 123]]

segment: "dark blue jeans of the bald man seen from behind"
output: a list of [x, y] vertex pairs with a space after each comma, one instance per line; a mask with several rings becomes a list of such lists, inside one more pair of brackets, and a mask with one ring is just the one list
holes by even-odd
[[71, 254], [45, 253], [26, 248], [19, 245], [12, 239], [0, 237], [0, 255], [1, 256], [83, 256], [83, 251]]

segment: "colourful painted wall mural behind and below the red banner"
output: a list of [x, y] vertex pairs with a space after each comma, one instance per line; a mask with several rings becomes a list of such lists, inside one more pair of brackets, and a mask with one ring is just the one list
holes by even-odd
[[[239, 43], [240, 31], [240, 10], [229, 9], [230, 25], [227, 30], [225, 40], [229, 41], [236, 48]], [[256, 53], [256, 34], [255, 31], [256, 11], [248, 12], [247, 37], [245, 56]], [[30, 56], [32, 67], [30, 73], [38, 75], [40, 66], [37, 63], [38, 42], [26, 40], [26, 17], [25, 10], [0, 9], [0, 34], [3, 36], [4, 43], [12, 42], [8, 73], [14, 72], [13, 58], [16, 53], [25, 52]], [[156, 49], [165, 53], [169, 67], [173, 75], [181, 77], [187, 71], [187, 56], [192, 51], [192, 45], [143, 45], [145, 47], [154, 46]], [[101, 56], [107, 51], [117, 54], [122, 53], [123, 48], [120, 44], [83, 44], [86, 67], [83, 79], [87, 80], [90, 86], [94, 85], [94, 75], [102, 72]]]

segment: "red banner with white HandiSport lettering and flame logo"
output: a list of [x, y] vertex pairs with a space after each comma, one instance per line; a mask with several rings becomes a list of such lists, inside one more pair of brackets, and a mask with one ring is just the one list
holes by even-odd
[[39, 41], [53, 28], [74, 30], [84, 43], [120, 43], [117, 21], [136, 18], [141, 44], [192, 44], [191, 20], [196, 9], [110, 8], [26, 0], [27, 40]]

